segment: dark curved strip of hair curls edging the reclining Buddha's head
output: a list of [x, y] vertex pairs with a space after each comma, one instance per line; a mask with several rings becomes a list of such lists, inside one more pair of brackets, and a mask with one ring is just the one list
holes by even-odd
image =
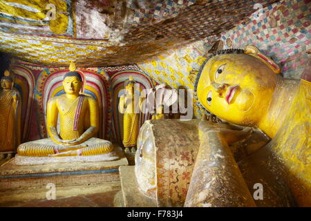
[[207, 61], [209, 61], [209, 59], [211, 59], [212, 57], [214, 57], [216, 55], [230, 55], [230, 54], [244, 54], [244, 50], [238, 49], [238, 48], [233, 48], [233, 49], [226, 49], [226, 50], [218, 50], [218, 51], [214, 52], [213, 54], [209, 55], [209, 57], [207, 57], [207, 59], [203, 62], [203, 64], [200, 66], [200, 69], [198, 70], [198, 75], [196, 75], [196, 83], [194, 84], [194, 97], [196, 99], [197, 105], [202, 110], [204, 110], [207, 114], [210, 114], [210, 112], [207, 111], [207, 109], [205, 109], [205, 107], [202, 106], [202, 104], [200, 104], [200, 102], [198, 100], [197, 91], [196, 91], [196, 89], [198, 88], [198, 81], [200, 79], [200, 75], [202, 73], [202, 70], [203, 70], [205, 64], [207, 64]]

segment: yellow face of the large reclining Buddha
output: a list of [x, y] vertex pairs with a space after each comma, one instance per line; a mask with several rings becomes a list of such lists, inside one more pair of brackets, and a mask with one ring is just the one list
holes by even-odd
[[276, 80], [277, 75], [251, 55], [216, 55], [202, 68], [197, 96], [217, 117], [254, 126], [267, 112]]

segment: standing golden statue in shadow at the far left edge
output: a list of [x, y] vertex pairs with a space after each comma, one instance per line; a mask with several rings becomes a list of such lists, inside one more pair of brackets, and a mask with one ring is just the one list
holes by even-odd
[[0, 153], [14, 153], [21, 142], [21, 96], [8, 70], [1, 78]]

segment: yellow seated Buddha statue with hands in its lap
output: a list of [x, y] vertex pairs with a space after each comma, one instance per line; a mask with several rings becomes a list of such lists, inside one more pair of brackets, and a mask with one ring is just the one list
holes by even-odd
[[[21, 156], [65, 157], [102, 155], [113, 151], [107, 140], [96, 138], [99, 129], [99, 112], [96, 99], [79, 94], [82, 77], [70, 64], [64, 75], [65, 94], [48, 100], [47, 131], [49, 138], [26, 142], [17, 148]], [[57, 133], [57, 118], [60, 132]]]

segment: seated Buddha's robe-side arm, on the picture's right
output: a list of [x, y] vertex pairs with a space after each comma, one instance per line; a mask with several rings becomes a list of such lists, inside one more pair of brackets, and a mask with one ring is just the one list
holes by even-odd
[[98, 129], [99, 129], [99, 111], [98, 111], [98, 104], [96, 99], [88, 97], [88, 107], [90, 111], [90, 127], [84, 131], [84, 133], [77, 139], [73, 140], [72, 142], [68, 142], [70, 145], [77, 145], [86, 142], [86, 140], [90, 139], [91, 137], [95, 137]]

